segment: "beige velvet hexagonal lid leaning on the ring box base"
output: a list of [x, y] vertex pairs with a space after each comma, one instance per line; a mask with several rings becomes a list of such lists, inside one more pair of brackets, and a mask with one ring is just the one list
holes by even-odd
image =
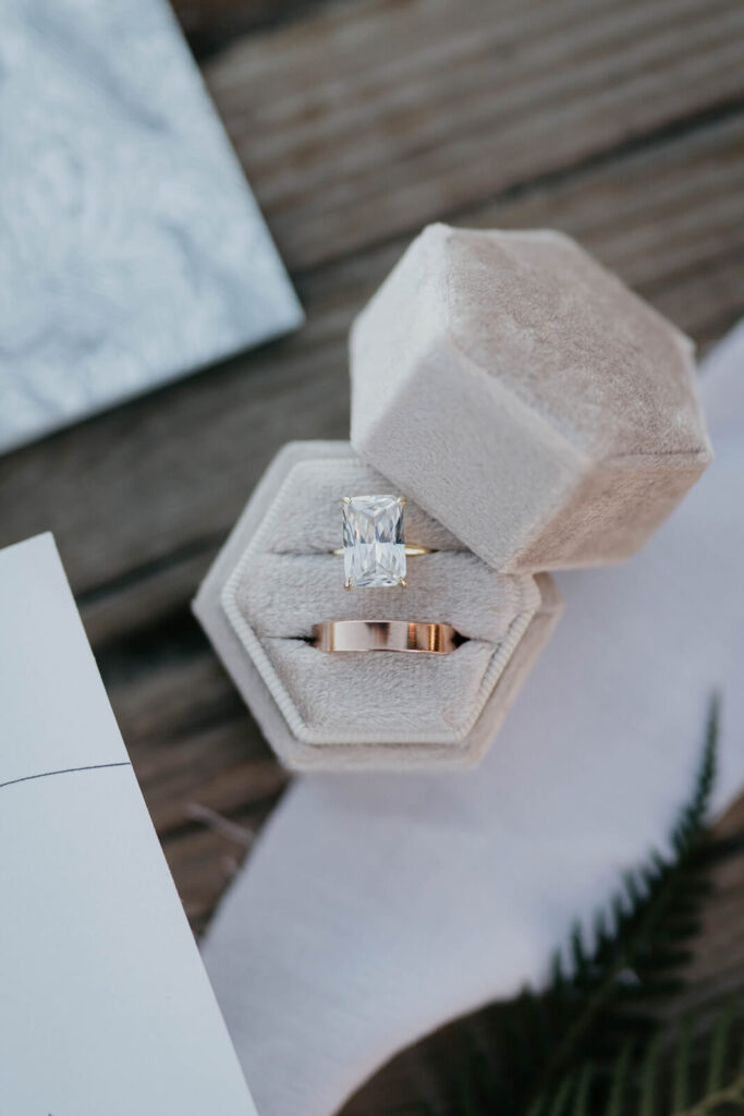
[[354, 448], [504, 571], [628, 558], [711, 460], [692, 343], [562, 233], [427, 227], [350, 356]]

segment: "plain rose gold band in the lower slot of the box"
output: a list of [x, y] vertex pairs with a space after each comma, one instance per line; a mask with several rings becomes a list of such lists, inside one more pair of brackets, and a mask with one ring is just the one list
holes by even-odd
[[418, 620], [327, 620], [313, 628], [320, 651], [414, 651], [448, 655], [461, 637], [451, 624]]

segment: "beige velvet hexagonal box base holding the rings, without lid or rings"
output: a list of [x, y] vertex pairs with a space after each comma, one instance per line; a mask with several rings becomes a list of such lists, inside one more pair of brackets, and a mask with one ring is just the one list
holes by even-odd
[[[344, 589], [340, 497], [397, 491], [348, 443], [287, 446], [257, 489], [194, 612], [278, 754], [293, 768], [439, 768], [474, 762], [495, 735], [561, 610], [549, 578], [489, 569], [415, 503], [407, 589]], [[329, 655], [323, 619], [445, 620], [447, 656]]]

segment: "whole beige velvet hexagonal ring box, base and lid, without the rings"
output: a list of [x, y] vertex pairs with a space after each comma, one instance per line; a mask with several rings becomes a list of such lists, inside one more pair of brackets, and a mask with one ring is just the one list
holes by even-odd
[[[294, 769], [464, 767], [561, 612], [545, 570], [629, 557], [711, 449], [693, 348], [569, 238], [432, 225], [351, 331], [351, 441], [271, 464], [194, 610]], [[408, 587], [344, 588], [344, 494], [403, 493]], [[450, 655], [318, 651], [316, 623], [454, 625]]]

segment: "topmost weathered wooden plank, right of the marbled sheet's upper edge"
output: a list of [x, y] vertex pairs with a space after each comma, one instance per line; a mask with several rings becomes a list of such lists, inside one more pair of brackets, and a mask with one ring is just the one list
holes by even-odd
[[731, 0], [365, 0], [206, 77], [297, 268], [741, 107], [743, 32]]

